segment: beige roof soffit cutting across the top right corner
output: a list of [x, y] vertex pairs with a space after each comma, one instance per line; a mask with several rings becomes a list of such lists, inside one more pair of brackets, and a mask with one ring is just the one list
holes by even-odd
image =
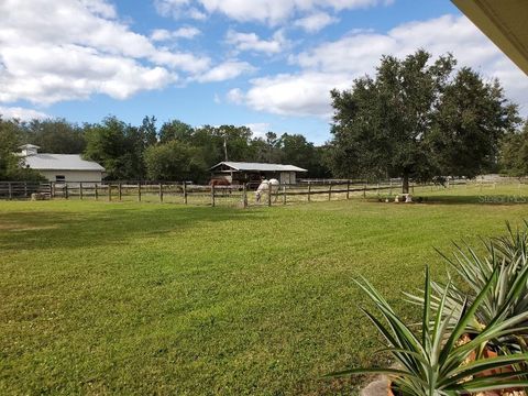
[[528, 0], [451, 0], [528, 75]]

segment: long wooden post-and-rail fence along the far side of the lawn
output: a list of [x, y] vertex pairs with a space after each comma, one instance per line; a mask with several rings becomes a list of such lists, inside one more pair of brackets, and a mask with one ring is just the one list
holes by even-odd
[[[463, 180], [457, 184], [465, 183]], [[436, 185], [410, 184], [416, 188], [441, 188]], [[32, 194], [45, 199], [79, 199], [105, 201], [173, 202], [209, 206], [273, 206], [295, 202], [393, 196], [402, 191], [400, 182], [367, 184], [361, 180], [333, 180], [288, 184], [271, 187], [257, 200], [257, 185], [200, 186], [167, 182], [107, 183], [31, 183], [0, 182], [0, 199], [29, 199]], [[442, 187], [443, 188], [443, 187]]]

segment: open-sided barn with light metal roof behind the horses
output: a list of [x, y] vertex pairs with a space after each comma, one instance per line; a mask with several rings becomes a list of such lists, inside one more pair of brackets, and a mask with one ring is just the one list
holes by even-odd
[[276, 178], [280, 184], [295, 184], [297, 174], [306, 173], [307, 169], [295, 165], [221, 162], [210, 168], [213, 179], [226, 179], [230, 184], [260, 182], [263, 177]]

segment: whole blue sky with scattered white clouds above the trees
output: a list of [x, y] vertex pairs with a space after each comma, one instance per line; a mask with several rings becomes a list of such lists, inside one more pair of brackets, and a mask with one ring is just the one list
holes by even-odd
[[498, 77], [526, 114], [526, 76], [448, 0], [4, 0], [0, 113], [155, 116], [323, 143], [329, 90], [418, 47]]

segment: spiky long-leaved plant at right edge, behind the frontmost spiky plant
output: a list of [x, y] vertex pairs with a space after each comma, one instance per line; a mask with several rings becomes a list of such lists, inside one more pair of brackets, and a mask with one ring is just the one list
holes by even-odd
[[[508, 234], [484, 242], [487, 253], [481, 257], [473, 249], [457, 246], [454, 258], [443, 257], [459, 275], [462, 285], [432, 283], [432, 307], [438, 308], [441, 296], [447, 295], [446, 306], [450, 311], [461, 311], [465, 300], [472, 302], [491, 283], [488, 293], [468, 323], [466, 332], [479, 334], [486, 327], [509, 320], [513, 327], [528, 328], [528, 232], [514, 232], [508, 224]], [[494, 276], [496, 274], [496, 276]], [[411, 301], [422, 304], [424, 297], [408, 295]], [[455, 326], [454, 321], [451, 326]], [[491, 340], [495, 349], [515, 353], [528, 351], [528, 331], [505, 334]]]

